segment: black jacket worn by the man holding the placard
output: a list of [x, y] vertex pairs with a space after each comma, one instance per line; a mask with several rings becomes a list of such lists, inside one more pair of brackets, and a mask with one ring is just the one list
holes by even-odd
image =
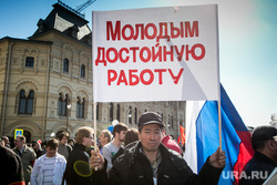
[[[153, 185], [153, 175], [150, 161], [140, 152], [141, 142], [136, 146], [124, 152], [113, 163], [109, 173], [109, 185]], [[199, 174], [196, 175], [187, 166], [182, 156], [160, 145], [162, 162], [157, 172], [158, 185], [202, 185], [217, 184], [223, 168], [215, 168], [207, 162]], [[101, 173], [101, 172], [99, 172]], [[103, 173], [103, 172], [102, 172]]]

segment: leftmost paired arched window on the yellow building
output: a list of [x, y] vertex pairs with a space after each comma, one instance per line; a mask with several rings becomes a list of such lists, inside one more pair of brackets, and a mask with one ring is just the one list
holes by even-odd
[[32, 114], [33, 113], [33, 97], [34, 97], [33, 91], [30, 91], [28, 96], [25, 96], [24, 90], [20, 91], [19, 114]]

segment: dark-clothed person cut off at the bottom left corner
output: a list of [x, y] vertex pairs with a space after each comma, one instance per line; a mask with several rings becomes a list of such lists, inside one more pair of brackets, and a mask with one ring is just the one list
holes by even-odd
[[24, 185], [20, 156], [3, 145], [0, 145], [0, 184]]

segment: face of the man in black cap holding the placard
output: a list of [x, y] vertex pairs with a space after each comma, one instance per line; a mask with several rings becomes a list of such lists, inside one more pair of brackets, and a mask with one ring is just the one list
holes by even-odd
[[157, 151], [162, 140], [162, 129], [158, 124], [147, 124], [138, 133], [145, 152]]

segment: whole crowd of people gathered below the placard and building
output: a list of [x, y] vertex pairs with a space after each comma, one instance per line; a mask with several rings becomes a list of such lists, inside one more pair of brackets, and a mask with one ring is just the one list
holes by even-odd
[[[183, 150], [165, 133], [161, 115], [143, 113], [137, 129], [124, 123], [103, 130], [94, 148], [92, 127], [83, 126], [70, 138], [62, 132], [47, 142], [25, 143], [17, 136], [14, 143], [0, 141], [1, 184], [217, 184], [226, 164], [219, 148], [211, 155], [198, 174], [184, 161]], [[255, 156], [244, 172], [270, 174], [277, 164], [277, 130], [259, 126], [254, 130], [252, 145]], [[263, 184], [266, 179], [242, 178], [239, 184]]]

